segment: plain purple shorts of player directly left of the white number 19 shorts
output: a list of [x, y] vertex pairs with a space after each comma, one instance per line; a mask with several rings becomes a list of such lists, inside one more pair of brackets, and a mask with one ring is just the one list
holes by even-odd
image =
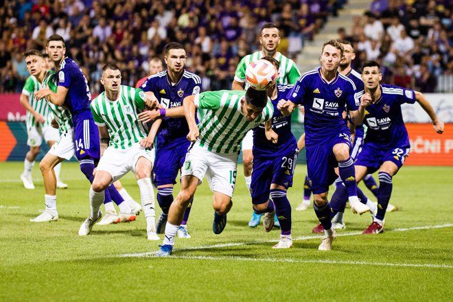
[[186, 142], [173, 148], [157, 148], [153, 178], [156, 185], [176, 183], [176, 176], [178, 176], [179, 170], [183, 167], [185, 154], [187, 154], [187, 148], [190, 146], [190, 142]]

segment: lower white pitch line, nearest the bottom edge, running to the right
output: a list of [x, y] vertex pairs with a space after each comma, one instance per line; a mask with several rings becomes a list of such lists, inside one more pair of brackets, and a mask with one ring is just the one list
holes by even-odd
[[289, 262], [289, 263], [317, 263], [317, 264], [356, 264], [364, 266], [402, 266], [412, 268], [453, 268], [446, 264], [406, 264], [406, 263], [382, 263], [363, 261], [337, 261], [337, 260], [297, 260], [276, 258], [246, 258], [246, 257], [209, 257], [209, 256], [170, 256], [172, 259], [198, 259], [198, 260], [233, 260], [251, 262]]

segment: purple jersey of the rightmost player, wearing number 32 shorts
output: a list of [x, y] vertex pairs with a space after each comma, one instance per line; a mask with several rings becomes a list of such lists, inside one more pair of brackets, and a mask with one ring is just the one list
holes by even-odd
[[[367, 107], [363, 123], [368, 127], [364, 143], [374, 143], [383, 149], [409, 148], [401, 105], [415, 103], [415, 92], [398, 86], [382, 84], [381, 97]], [[357, 95], [360, 98], [364, 91]]]

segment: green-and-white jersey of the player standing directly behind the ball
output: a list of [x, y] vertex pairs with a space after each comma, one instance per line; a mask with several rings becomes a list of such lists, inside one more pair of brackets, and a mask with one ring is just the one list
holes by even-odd
[[[244, 56], [244, 58], [242, 58], [242, 60], [237, 65], [234, 79], [237, 82], [246, 82], [245, 71], [247, 69], [247, 66], [250, 65], [251, 62], [257, 61], [262, 57], [262, 51], [256, 51], [253, 54]], [[299, 69], [297, 69], [296, 63], [290, 58], [286, 58], [286, 56], [283, 56], [278, 51], [277, 54], [275, 54], [274, 58], [280, 62], [279, 79], [277, 80], [277, 84], [296, 84], [297, 80], [301, 76]], [[247, 88], [248, 84], [246, 83], [244, 89]]]

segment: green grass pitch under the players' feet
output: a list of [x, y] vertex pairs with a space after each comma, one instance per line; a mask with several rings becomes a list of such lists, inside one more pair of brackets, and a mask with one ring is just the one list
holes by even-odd
[[[294, 248], [274, 250], [279, 231], [247, 227], [248, 196], [238, 169], [233, 209], [220, 235], [212, 232], [211, 191], [198, 188], [189, 219], [192, 238], [176, 238], [173, 257], [152, 256], [136, 222], [95, 226], [78, 236], [89, 215], [89, 183], [77, 163], [63, 163], [69, 189], [57, 191], [60, 220], [32, 223], [44, 208], [44, 187], [23, 188], [23, 163], [0, 163], [0, 301], [447, 301], [453, 297], [453, 167], [403, 167], [393, 178], [385, 232], [360, 235], [369, 215], [345, 213], [334, 250], [317, 251], [312, 209], [294, 211], [303, 196], [298, 165], [288, 197]], [[121, 179], [139, 202], [132, 174]], [[178, 187], [175, 187], [175, 196]], [[365, 194], [371, 192], [364, 189]], [[332, 195], [332, 191], [329, 195]], [[372, 198], [375, 200], [375, 198]], [[157, 209], [156, 215], [160, 214]], [[161, 235], [163, 237], [163, 235]], [[450, 297], [450, 298], [448, 298]]]

